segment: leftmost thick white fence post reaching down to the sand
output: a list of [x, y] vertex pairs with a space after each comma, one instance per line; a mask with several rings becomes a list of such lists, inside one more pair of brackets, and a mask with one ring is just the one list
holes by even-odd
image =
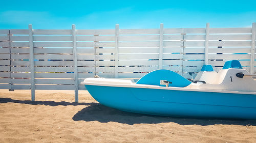
[[34, 44], [32, 24], [29, 24], [29, 55], [31, 72], [31, 100], [35, 101], [35, 67], [34, 67]]

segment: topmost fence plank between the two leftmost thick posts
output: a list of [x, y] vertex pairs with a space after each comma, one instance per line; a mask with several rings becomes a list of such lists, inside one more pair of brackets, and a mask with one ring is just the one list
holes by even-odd
[[34, 35], [72, 35], [72, 30], [33, 30]]

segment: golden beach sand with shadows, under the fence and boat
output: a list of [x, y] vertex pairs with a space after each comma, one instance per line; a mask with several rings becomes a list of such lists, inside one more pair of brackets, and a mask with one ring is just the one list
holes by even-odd
[[[99, 104], [87, 91], [0, 90], [0, 142], [256, 142], [255, 120], [147, 116]], [[256, 103], [255, 103], [256, 104]]]

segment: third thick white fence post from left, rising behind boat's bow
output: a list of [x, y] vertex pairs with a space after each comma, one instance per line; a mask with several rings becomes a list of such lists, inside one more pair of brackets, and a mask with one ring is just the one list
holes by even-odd
[[119, 24], [116, 24], [115, 31], [115, 78], [118, 78], [118, 44], [119, 41]]

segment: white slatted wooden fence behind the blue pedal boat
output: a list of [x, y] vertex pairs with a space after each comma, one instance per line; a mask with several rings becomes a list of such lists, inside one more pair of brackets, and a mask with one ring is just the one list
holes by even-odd
[[[87, 77], [140, 78], [156, 69], [195, 77], [240, 60], [253, 74], [256, 23], [243, 28], [0, 30], [0, 89], [86, 90]], [[33, 48], [30, 48], [33, 47]]]

